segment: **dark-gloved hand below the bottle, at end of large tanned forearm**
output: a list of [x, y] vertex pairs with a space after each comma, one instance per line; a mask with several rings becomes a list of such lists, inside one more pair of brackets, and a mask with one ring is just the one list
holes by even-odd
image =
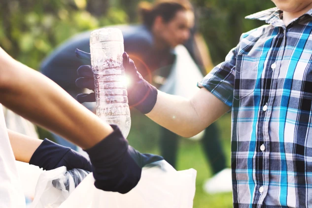
[[129, 146], [116, 125], [111, 127], [113, 133], [85, 151], [92, 163], [95, 187], [125, 194], [139, 183], [143, 166], [163, 158], [139, 153]]

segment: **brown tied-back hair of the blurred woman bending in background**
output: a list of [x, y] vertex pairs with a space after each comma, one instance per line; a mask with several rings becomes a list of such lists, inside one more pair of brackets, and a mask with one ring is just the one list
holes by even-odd
[[154, 5], [146, 1], [139, 3], [141, 20], [148, 27], [153, 26], [157, 16], [161, 16], [166, 23], [170, 22], [178, 11], [192, 11], [192, 7], [179, 0], [158, 0]]

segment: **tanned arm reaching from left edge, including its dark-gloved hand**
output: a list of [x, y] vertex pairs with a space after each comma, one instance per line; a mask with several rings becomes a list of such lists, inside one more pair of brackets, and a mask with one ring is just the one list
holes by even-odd
[[0, 103], [85, 149], [97, 188], [127, 193], [138, 184], [141, 167], [118, 127], [104, 123], [53, 81], [1, 48]]

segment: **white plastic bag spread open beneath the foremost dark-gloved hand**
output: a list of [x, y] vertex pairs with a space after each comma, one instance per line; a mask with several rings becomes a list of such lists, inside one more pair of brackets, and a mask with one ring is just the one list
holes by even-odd
[[60, 208], [192, 208], [196, 171], [176, 171], [165, 160], [142, 169], [138, 185], [127, 194], [105, 192], [89, 174]]

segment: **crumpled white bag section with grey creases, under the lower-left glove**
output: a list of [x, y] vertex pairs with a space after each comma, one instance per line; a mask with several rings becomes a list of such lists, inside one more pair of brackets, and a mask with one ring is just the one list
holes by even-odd
[[40, 174], [31, 208], [58, 208], [90, 172], [60, 167]]

